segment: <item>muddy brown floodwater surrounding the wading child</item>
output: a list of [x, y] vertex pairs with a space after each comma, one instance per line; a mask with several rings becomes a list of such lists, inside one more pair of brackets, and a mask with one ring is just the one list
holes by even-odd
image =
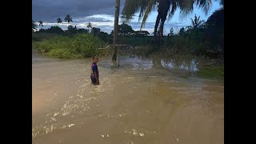
[[110, 59], [100, 58], [92, 86], [90, 58], [32, 54], [34, 144], [224, 143], [223, 82], [150, 59], [122, 58], [116, 69]]

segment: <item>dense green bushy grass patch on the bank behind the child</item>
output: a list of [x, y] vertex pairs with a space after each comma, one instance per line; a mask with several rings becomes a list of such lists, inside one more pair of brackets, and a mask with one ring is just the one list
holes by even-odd
[[93, 34], [76, 34], [72, 37], [57, 36], [44, 39], [40, 42], [32, 42], [32, 47], [38, 52], [54, 58], [89, 58], [102, 55], [98, 48], [106, 46]]

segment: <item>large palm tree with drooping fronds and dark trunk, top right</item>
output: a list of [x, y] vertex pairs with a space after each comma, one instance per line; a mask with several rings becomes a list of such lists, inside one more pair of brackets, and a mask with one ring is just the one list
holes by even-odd
[[[166, 18], [167, 20], [170, 20], [177, 8], [181, 10], [183, 16], [190, 14], [190, 12], [194, 10], [194, 5], [202, 7], [204, 12], [207, 13], [210, 9], [211, 1], [212, 0], [126, 0], [122, 10], [122, 18], [129, 21], [133, 18], [135, 13], [139, 12], [138, 20], [140, 21], [142, 19], [142, 29], [142, 27], [145, 26], [146, 19], [150, 12], [158, 6], [158, 17], [154, 26], [154, 35], [156, 36], [157, 31], [159, 31], [160, 36], [162, 36]], [[224, 0], [221, 0], [221, 2], [223, 1]], [[160, 26], [158, 28], [159, 23]]]

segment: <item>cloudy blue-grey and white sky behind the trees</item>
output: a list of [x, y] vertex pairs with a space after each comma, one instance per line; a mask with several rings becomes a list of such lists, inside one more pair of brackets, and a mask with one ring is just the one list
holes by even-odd
[[[125, 0], [121, 0], [120, 13]], [[115, 0], [32, 0], [32, 18], [35, 22], [42, 20], [44, 27], [57, 25], [57, 18], [62, 18], [63, 23], [59, 26], [66, 30], [67, 24], [64, 22], [66, 14], [70, 14], [73, 18], [72, 25], [78, 28], [86, 28], [86, 24], [91, 22], [93, 26], [100, 28], [102, 31], [110, 33], [114, 28], [114, 4]], [[189, 26], [190, 18], [194, 14], [201, 16], [202, 20], [206, 20], [210, 14], [218, 10], [219, 2], [214, 1], [208, 14], [202, 12], [201, 9], [195, 8], [192, 14], [188, 14], [185, 18], [180, 17], [179, 10], [174, 14], [174, 17], [169, 22], [165, 23], [165, 34], [169, 33], [170, 28], [178, 30], [182, 26]], [[138, 15], [138, 14], [136, 14]], [[143, 30], [148, 30], [150, 33], [154, 31], [154, 22], [158, 13], [152, 12], [146, 21], [146, 26]], [[139, 30], [141, 22], [138, 22], [138, 17], [134, 17], [129, 23], [134, 30]]]

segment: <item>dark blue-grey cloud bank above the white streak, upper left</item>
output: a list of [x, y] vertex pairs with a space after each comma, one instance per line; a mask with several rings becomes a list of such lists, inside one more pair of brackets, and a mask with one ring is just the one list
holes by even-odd
[[[121, 1], [121, 10], [124, 1]], [[114, 15], [115, 0], [32, 0], [34, 21], [55, 22], [70, 14], [72, 18], [93, 14]]]

